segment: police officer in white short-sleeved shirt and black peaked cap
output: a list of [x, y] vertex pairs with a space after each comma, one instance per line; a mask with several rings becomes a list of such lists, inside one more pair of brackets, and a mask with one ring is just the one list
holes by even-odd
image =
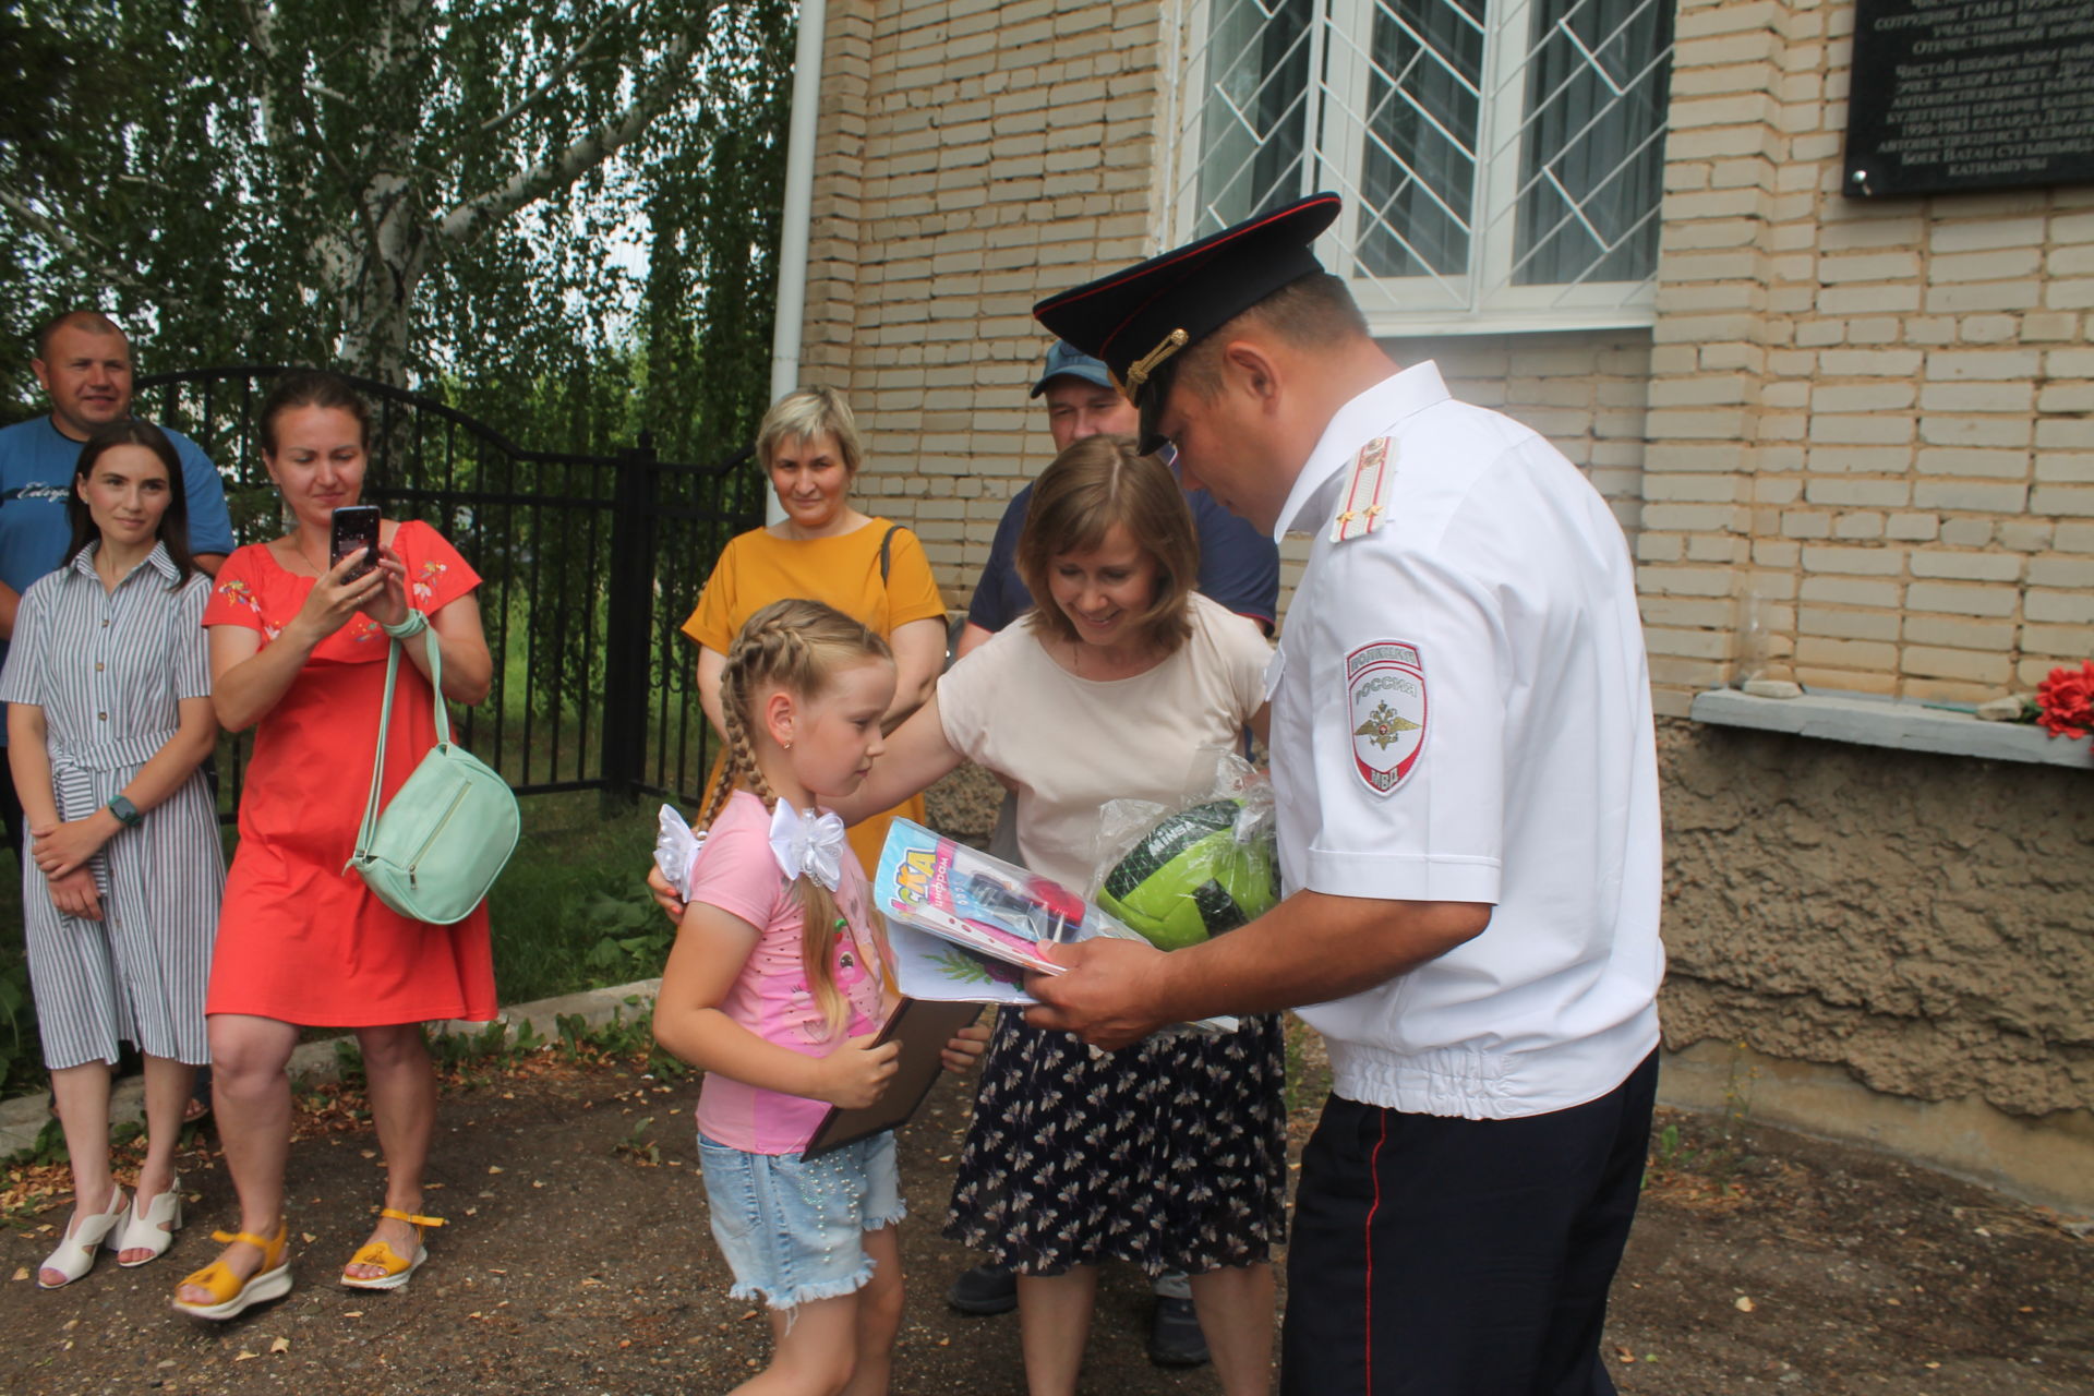
[[1313, 534], [1267, 678], [1288, 898], [1162, 954], [1055, 946], [1039, 1026], [1120, 1046], [1311, 1005], [1332, 1097], [1282, 1390], [1594, 1396], [1656, 1086], [1658, 779], [1633, 567], [1527, 427], [1401, 368], [1317, 195], [1041, 301], [1202, 483]]

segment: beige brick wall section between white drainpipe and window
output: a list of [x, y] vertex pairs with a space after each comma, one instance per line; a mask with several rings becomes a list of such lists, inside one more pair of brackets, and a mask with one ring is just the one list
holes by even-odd
[[856, 502], [909, 523], [965, 607], [1051, 456], [1032, 301], [1154, 251], [1156, 6], [829, 8], [804, 383], [867, 433]]

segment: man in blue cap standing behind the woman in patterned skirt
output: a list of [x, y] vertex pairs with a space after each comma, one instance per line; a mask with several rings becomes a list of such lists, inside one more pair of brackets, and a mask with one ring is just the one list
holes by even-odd
[[[1057, 341], [1047, 350], [1047, 366], [1041, 370], [1039, 383], [1032, 385], [1032, 396], [1047, 398], [1047, 431], [1053, 433], [1057, 452], [1089, 435], [1139, 433], [1139, 416], [1120, 389], [1112, 385], [1106, 366], [1068, 343]], [[1026, 590], [1013, 561], [1030, 502], [1032, 486], [1028, 483], [1003, 509], [997, 536], [988, 544], [982, 580], [974, 586], [967, 624], [953, 645], [955, 659], [1032, 609], [1032, 592]], [[1238, 615], [1258, 622], [1258, 628], [1271, 634], [1273, 617], [1279, 613], [1279, 548], [1273, 546], [1271, 538], [1217, 504], [1206, 490], [1189, 492], [1185, 502], [1191, 504], [1194, 525], [1200, 530], [1200, 590]], [[1020, 862], [1013, 795], [1003, 797], [988, 852], [1007, 862]], [[1154, 1287], [1156, 1319], [1150, 1325], [1150, 1360], [1160, 1367], [1206, 1363], [1206, 1339], [1191, 1310], [1185, 1277], [1164, 1275], [1156, 1279]], [[1016, 1308], [1018, 1281], [1009, 1270], [984, 1264], [955, 1279], [944, 1298], [963, 1314], [1001, 1314]]]

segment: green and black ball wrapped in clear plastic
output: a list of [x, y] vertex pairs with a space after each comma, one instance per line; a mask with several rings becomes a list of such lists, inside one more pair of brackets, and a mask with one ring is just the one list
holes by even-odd
[[1240, 800], [1210, 800], [1156, 823], [1106, 875], [1097, 904], [1164, 950], [1196, 946], [1279, 900], [1271, 835], [1238, 841]]

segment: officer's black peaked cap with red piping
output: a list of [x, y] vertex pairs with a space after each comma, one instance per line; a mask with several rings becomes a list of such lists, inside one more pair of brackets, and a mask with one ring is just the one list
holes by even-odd
[[1311, 243], [1336, 218], [1338, 195], [1311, 195], [1049, 295], [1032, 308], [1032, 318], [1106, 362], [1112, 381], [1141, 408], [1148, 448], [1179, 350], [1212, 335], [1279, 287], [1321, 272]]

